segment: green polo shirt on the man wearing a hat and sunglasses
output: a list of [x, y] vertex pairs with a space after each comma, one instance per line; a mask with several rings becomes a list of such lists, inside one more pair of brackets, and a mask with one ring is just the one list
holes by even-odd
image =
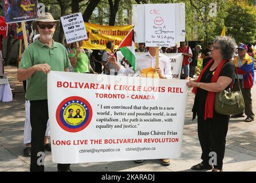
[[[19, 68], [28, 69], [42, 63], [48, 63], [55, 71], [64, 71], [70, 66], [68, 53], [61, 43], [53, 41], [52, 47], [49, 47], [36, 39], [22, 54]], [[36, 71], [27, 79], [26, 100], [47, 100], [47, 74]]]

